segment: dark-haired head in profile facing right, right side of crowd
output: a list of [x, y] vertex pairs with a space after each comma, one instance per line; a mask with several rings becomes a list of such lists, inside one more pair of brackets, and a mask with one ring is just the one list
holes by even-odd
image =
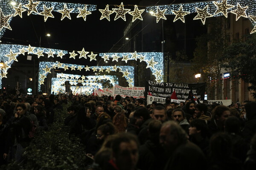
[[230, 116], [230, 109], [227, 106], [219, 105], [213, 111], [213, 118], [219, 130], [224, 130], [224, 124]]

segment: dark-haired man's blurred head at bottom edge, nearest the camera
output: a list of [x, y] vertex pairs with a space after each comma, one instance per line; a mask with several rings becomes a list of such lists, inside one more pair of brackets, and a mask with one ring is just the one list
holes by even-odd
[[112, 141], [112, 166], [119, 170], [136, 170], [139, 142], [131, 133], [118, 133]]

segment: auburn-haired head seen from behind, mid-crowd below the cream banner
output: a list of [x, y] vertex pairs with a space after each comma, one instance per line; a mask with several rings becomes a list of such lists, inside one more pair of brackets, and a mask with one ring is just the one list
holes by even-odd
[[127, 127], [127, 118], [123, 113], [116, 113], [113, 117], [113, 124], [116, 126], [118, 132], [125, 132]]

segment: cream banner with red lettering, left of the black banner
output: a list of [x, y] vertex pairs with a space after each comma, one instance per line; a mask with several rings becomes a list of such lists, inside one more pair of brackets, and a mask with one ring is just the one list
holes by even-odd
[[129, 87], [125, 88], [119, 85], [113, 87], [113, 96], [119, 94], [122, 97], [133, 96], [134, 98], [145, 98], [145, 88], [142, 87]]

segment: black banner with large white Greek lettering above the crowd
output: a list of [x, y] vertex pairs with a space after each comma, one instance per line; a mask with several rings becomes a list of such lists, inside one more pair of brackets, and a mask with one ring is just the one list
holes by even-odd
[[147, 91], [152, 96], [157, 97], [170, 97], [172, 92], [175, 91], [177, 99], [187, 99], [189, 91], [192, 90], [193, 95], [198, 99], [204, 99], [205, 83], [187, 84], [187, 83], [169, 83], [169, 82], [151, 82], [147, 81]]

